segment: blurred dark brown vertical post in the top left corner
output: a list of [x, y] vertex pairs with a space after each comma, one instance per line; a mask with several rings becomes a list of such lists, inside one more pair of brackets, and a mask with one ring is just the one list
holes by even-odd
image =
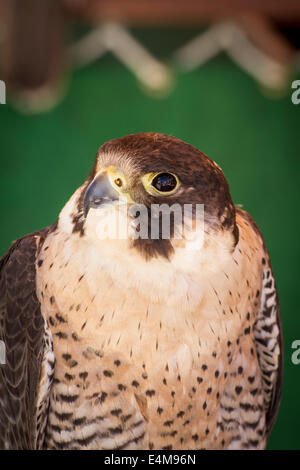
[[0, 0], [1, 78], [15, 91], [51, 87], [65, 67], [61, 0]]

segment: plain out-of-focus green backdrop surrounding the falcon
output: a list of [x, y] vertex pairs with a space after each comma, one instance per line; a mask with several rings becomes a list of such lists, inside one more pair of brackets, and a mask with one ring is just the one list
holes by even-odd
[[[186, 39], [178, 32], [136, 35], [162, 57]], [[192, 73], [177, 71], [174, 91], [162, 99], [145, 94], [111, 56], [67, 82], [65, 98], [47, 113], [0, 106], [0, 255], [12, 240], [56, 220], [104, 141], [157, 131], [198, 147], [222, 167], [234, 202], [264, 234], [285, 340], [282, 404], [268, 448], [299, 449], [300, 364], [291, 362], [291, 344], [300, 339], [300, 105], [290, 90], [270, 98], [222, 55]]]

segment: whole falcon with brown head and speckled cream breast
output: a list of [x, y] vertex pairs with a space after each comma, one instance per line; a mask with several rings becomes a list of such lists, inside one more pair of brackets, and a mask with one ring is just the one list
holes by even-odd
[[[170, 217], [169, 237], [149, 236], [152, 206], [173, 205], [192, 207], [188, 229]], [[116, 215], [129, 235], [103, 236]], [[277, 415], [265, 243], [220, 167], [174, 137], [105, 143], [57, 223], [14, 242], [0, 339], [3, 449], [263, 449]]]

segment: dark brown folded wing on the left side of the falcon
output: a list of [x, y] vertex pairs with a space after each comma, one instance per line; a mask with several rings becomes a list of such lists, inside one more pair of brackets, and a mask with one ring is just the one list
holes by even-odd
[[35, 260], [49, 230], [17, 240], [0, 260], [0, 340], [6, 350], [0, 365], [2, 449], [34, 449], [40, 441], [37, 404], [47, 344]]

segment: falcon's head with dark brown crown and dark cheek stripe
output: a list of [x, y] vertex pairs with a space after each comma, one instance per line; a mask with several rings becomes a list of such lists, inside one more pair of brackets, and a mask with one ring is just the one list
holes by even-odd
[[[232, 252], [238, 229], [222, 170], [191, 145], [147, 132], [111, 140], [100, 147], [93, 170], [73, 196], [67, 216], [73, 233], [95, 240], [99, 227], [111, 228], [112, 217], [122, 213], [131, 227], [129, 233], [134, 229], [135, 235], [127, 240], [130, 247], [147, 260], [170, 259], [176, 248], [185, 244], [184, 231], [180, 232], [180, 241], [178, 237], [183, 220], [189, 219], [191, 229], [197, 219], [196, 208], [201, 205], [207, 240], [226, 235], [226, 249]], [[176, 218], [170, 208], [181, 211], [185, 218]], [[170, 216], [167, 237], [162, 230], [164, 210]], [[66, 210], [60, 219], [66, 219]], [[155, 221], [159, 221], [159, 228], [153, 236]]]

